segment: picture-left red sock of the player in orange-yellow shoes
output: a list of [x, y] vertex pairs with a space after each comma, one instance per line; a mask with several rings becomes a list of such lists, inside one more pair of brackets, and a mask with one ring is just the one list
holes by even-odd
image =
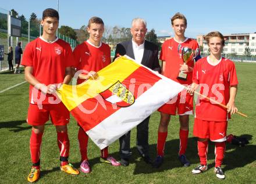
[[42, 143], [42, 133], [35, 134], [35, 132], [31, 131], [30, 136], [30, 155], [31, 161], [33, 163], [33, 167], [39, 169], [40, 168], [40, 147]]

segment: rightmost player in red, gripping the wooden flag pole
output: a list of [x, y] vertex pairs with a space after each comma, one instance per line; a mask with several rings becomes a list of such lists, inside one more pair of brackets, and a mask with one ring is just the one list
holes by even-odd
[[193, 70], [193, 84], [188, 92], [193, 93], [199, 86], [200, 93], [205, 93], [208, 98], [215, 99], [225, 104], [228, 109], [200, 98], [200, 103], [195, 106], [194, 136], [198, 137], [197, 147], [200, 165], [192, 173], [199, 174], [206, 171], [208, 139], [215, 142], [215, 173], [217, 178], [224, 179], [221, 164], [225, 153], [227, 120], [237, 108], [234, 99], [237, 93], [237, 75], [234, 63], [221, 57], [225, 44], [224, 37], [218, 31], [208, 33], [205, 40], [209, 46], [210, 55], [198, 60]]

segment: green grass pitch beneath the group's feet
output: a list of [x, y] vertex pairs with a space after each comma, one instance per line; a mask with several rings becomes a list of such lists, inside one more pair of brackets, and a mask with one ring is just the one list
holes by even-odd
[[[59, 169], [59, 151], [56, 144], [55, 127], [47, 122], [41, 146], [41, 178], [37, 183], [256, 183], [256, 64], [236, 63], [239, 78], [239, 91], [236, 106], [248, 115], [248, 118], [234, 115], [229, 121], [227, 134], [246, 136], [250, 144], [245, 147], [227, 145], [223, 169], [225, 181], [219, 181], [214, 174], [214, 144], [209, 145], [209, 170], [200, 175], [192, 175], [191, 170], [199, 163], [196, 139], [192, 131], [189, 134], [187, 158], [191, 161], [188, 168], [180, 167], [177, 160], [179, 148], [179, 123], [173, 117], [169, 125], [165, 146], [165, 162], [155, 169], [144, 163], [136, 150], [136, 129], [131, 134], [133, 156], [129, 167], [112, 167], [99, 162], [99, 149], [93, 142], [88, 144], [88, 157], [92, 172], [70, 176]], [[24, 81], [24, 74], [0, 74], [0, 91]], [[25, 83], [0, 93], [0, 183], [28, 183], [30, 151], [29, 139], [31, 127], [26, 123], [29, 106], [29, 84]], [[150, 120], [150, 154], [156, 154], [159, 113], [155, 112]], [[78, 127], [74, 118], [69, 123], [70, 158], [75, 167], [80, 164], [80, 152], [77, 141]], [[190, 120], [193, 129], [193, 117]], [[109, 152], [117, 158], [119, 142], [109, 146]]]

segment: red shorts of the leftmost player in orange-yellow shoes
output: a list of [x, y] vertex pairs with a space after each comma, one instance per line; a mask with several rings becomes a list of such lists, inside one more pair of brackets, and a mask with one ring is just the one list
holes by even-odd
[[58, 104], [42, 104], [39, 109], [37, 104], [29, 104], [27, 123], [30, 125], [44, 125], [51, 117], [52, 124], [66, 125], [69, 123], [69, 110], [61, 102]]

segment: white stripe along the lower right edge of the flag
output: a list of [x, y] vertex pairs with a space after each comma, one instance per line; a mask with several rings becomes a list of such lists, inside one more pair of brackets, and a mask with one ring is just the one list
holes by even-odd
[[100, 149], [104, 149], [127, 131], [136, 127], [184, 89], [183, 85], [175, 81], [162, 76], [161, 78], [137, 98], [133, 105], [119, 109], [86, 132]]

